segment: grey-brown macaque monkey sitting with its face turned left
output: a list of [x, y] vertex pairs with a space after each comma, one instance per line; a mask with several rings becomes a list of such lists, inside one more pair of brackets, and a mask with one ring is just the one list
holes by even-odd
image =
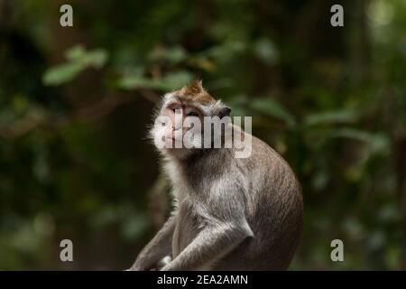
[[[300, 183], [289, 164], [268, 144], [241, 128], [237, 134], [252, 138], [251, 155], [245, 158], [235, 157], [235, 147], [203, 147], [206, 136], [202, 132], [189, 141], [182, 139], [191, 129], [184, 126], [188, 118], [203, 123], [203, 117], [222, 120], [230, 113], [229, 107], [203, 89], [201, 81], [162, 98], [156, 117], [171, 122], [155, 121], [152, 139], [156, 145], [162, 139], [184, 144], [157, 145], [171, 179], [174, 210], [130, 270], [289, 267], [300, 243], [303, 222]], [[225, 122], [225, 126], [235, 125]], [[160, 267], [162, 258], [167, 262]]]

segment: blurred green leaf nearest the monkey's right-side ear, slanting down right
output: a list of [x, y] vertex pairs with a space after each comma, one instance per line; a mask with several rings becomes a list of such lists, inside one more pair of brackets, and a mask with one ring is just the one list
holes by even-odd
[[251, 107], [264, 115], [285, 121], [288, 126], [295, 126], [295, 118], [291, 113], [282, 107], [279, 102], [271, 98], [254, 98], [251, 102]]

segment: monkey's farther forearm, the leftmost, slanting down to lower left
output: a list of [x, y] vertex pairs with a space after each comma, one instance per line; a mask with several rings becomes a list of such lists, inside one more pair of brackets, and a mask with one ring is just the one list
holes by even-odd
[[150, 270], [164, 256], [171, 255], [173, 231], [177, 215], [172, 215], [154, 238], [143, 248], [131, 267], [134, 271]]

